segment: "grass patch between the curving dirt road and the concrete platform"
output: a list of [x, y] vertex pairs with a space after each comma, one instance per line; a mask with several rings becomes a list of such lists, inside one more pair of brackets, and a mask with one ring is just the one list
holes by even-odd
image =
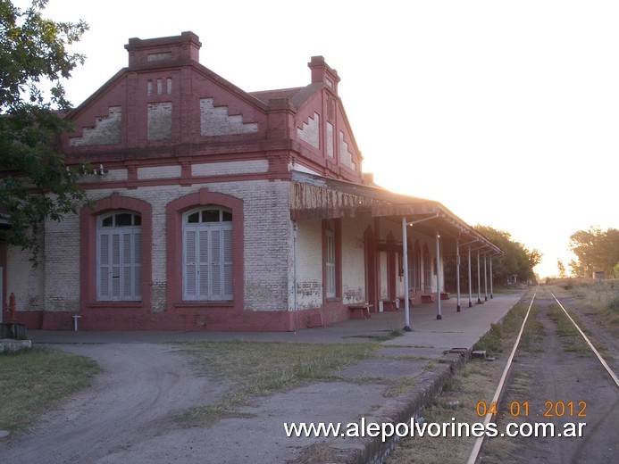
[[180, 345], [205, 375], [217, 377], [230, 393], [211, 405], [177, 416], [186, 426], [209, 425], [238, 416], [254, 398], [300, 385], [339, 380], [339, 371], [374, 355], [378, 344], [284, 344], [262, 342], [192, 342]]

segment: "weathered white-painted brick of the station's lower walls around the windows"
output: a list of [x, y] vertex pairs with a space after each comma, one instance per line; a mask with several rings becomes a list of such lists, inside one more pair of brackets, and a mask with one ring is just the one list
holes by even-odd
[[[222, 163], [225, 164], [225, 163]], [[178, 169], [178, 167], [173, 167]], [[166, 170], [168, 168], [162, 168]], [[169, 172], [169, 171], [168, 171]], [[144, 174], [143, 171], [141, 174]], [[156, 170], [146, 170], [155, 175]], [[173, 174], [179, 174], [175, 171]], [[123, 191], [122, 196], [137, 198], [152, 205], [152, 300], [153, 310], [166, 307], [166, 205], [181, 196], [206, 187], [213, 193], [240, 198], [244, 202], [244, 292], [248, 311], [285, 311], [322, 306], [322, 225], [321, 220], [299, 220], [297, 232], [297, 288], [294, 286], [293, 227], [289, 217], [289, 188], [286, 181], [236, 181], [205, 183], [192, 186], [140, 186]], [[115, 189], [89, 190], [96, 201], [106, 198]], [[363, 231], [372, 220], [342, 220], [342, 302], [364, 301]], [[397, 224], [385, 221], [381, 236], [392, 229], [397, 240]], [[79, 217], [67, 216], [62, 222], [46, 223], [45, 252], [38, 269], [30, 269], [24, 254], [11, 249], [8, 253], [7, 291], [15, 292], [20, 304], [28, 309], [75, 311], [79, 307]], [[400, 232], [401, 233], [401, 232]], [[433, 243], [428, 237], [429, 246]], [[420, 240], [423, 244], [425, 240]], [[381, 282], [386, 283], [386, 255], [380, 253]], [[45, 278], [43, 272], [45, 271]], [[398, 284], [399, 289], [400, 284]], [[386, 284], [381, 287], [386, 297]], [[25, 308], [25, 306], [21, 306]]]

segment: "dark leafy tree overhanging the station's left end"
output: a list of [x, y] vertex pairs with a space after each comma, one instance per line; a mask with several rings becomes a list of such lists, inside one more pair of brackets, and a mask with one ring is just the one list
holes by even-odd
[[68, 47], [88, 25], [44, 18], [46, 3], [21, 10], [0, 0], [0, 212], [11, 224], [0, 238], [23, 248], [36, 243], [45, 220], [62, 220], [86, 202], [79, 169], [67, 168], [54, 141], [69, 128], [62, 80], [85, 59]]

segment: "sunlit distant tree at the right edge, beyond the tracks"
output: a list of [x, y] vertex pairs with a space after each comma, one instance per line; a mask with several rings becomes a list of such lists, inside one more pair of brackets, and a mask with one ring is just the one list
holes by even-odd
[[570, 262], [574, 277], [590, 278], [594, 272], [603, 271], [606, 277], [619, 277], [619, 230], [590, 227], [570, 236], [570, 250], [576, 259]]

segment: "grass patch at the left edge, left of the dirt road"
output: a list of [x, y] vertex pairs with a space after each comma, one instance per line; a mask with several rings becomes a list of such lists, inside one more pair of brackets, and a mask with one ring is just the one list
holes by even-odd
[[0, 354], [0, 429], [26, 430], [38, 416], [91, 384], [94, 360], [49, 348]]

